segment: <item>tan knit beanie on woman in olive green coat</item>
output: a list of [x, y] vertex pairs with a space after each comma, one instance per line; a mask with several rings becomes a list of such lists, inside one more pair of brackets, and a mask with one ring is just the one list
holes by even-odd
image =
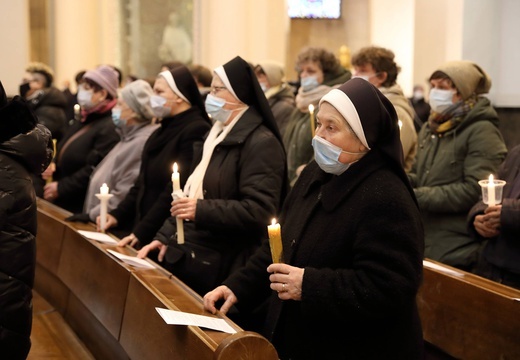
[[473, 93], [486, 94], [491, 88], [489, 75], [471, 61], [449, 61], [436, 71], [442, 71], [450, 77], [463, 100], [468, 99]]

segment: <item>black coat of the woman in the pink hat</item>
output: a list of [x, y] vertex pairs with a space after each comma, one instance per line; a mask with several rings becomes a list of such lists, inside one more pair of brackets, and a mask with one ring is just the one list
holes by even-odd
[[54, 203], [72, 213], [82, 212], [92, 171], [118, 142], [111, 111], [89, 114], [84, 122], [71, 125], [58, 143]]

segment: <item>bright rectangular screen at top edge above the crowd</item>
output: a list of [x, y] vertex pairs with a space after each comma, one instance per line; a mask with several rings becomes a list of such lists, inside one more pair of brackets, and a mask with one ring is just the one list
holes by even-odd
[[339, 19], [341, 0], [287, 0], [291, 19]]

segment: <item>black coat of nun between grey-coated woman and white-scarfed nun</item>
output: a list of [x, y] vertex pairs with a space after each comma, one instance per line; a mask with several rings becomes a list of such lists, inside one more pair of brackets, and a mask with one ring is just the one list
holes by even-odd
[[184, 186], [193, 163], [193, 147], [202, 143], [210, 128], [209, 121], [195, 107], [161, 121], [144, 145], [137, 181], [117, 208], [110, 211], [120, 231], [133, 232], [141, 245], [153, 240], [170, 216], [173, 163], [177, 162]]

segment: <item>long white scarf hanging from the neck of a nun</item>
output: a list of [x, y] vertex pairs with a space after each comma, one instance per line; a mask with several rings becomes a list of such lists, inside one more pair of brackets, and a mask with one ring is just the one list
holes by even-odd
[[213, 155], [213, 150], [215, 147], [220, 144], [229, 134], [231, 129], [235, 126], [235, 124], [240, 120], [242, 115], [247, 111], [248, 107], [241, 110], [236, 116], [236, 118], [229, 123], [229, 125], [224, 126], [224, 124], [220, 121], [215, 121], [213, 124], [206, 141], [204, 141], [204, 146], [202, 149], [202, 159], [199, 164], [193, 170], [191, 175], [186, 180], [186, 185], [184, 186], [184, 195], [191, 199], [204, 199], [204, 193], [202, 191], [202, 185], [204, 181], [204, 176], [206, 175], [206, 170], [208, 169], [209, 162], [211, 160], [211, 156]]

